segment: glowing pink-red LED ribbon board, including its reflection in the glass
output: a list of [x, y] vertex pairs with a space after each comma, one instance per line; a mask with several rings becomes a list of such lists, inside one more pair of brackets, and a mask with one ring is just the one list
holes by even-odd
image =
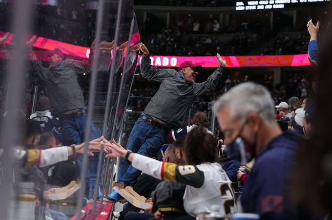
[[[0, 32], [3, 36], [5, 32]], [[12, 44], [14, 35], [10, 34], [5, 44]], [[60, 41], [55, 41], [48, 38], [38, 37], [33, 45], [35, 48], [44, 50], [52, 50], [55, 47], [60, 48], [63, 54], [78, 59], [87, 59], [90, 54], [90, 48], [67, 44]], [[45, 51], [35, 51], [36, 56], [44, 61], [47, 61], [47, 56], [44, 55]], [[4, 54], [0, 54], [0, 58], [6, 58]], [[218, 61], [215, 56], [150, 56], [152, 66], [158, 67], [179, 67], [184, 61], [192, 61], [196, 65], [203, 67], [218, 67]], [[308, 54], [296, 55], [261, 55], [261, 56], [223, 56], [226, 59], [227, 67], [255, 67], [255, 66], [310, 66]], [[142, 55], [139, 57], [138, 65], [140, 65]]]

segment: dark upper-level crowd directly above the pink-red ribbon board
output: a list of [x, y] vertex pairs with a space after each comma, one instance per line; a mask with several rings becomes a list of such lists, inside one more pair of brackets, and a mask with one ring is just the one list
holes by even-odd
[[[220, 51], [225, 55], [244, 55], [262, 45], [256, 41], [264, 31], [259, 18], [221, 27], [213, 18], [207, 23], [201, 23], [190, 15], [185, 18], [176, 17], [168, 28], [163, 28], [160, 32], [151, 31], [150, 23], [148, 18], [141, 26], [141, 38], [154, 55], [211, 56]], [[220, 38], [221, 34], [230, 37], [223, 40]], [[261, 55], [302, 54], [308, 51], [309, 37], [305, 33], [296, 37], [279, 33], [272, 43], [268, 39], [264, 39], [265, 41], [267, 46], [262, 48]]]

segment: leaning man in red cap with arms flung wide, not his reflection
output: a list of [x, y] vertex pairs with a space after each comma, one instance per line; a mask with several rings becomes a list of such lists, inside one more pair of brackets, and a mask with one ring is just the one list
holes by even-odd
[[[160, 151], [168, 132], [171, 129], [177, 130], [182, 125], [195, 99], [216, 88], [225, 71], [226, 61], [217, 54], [220, 66], [207, 78], [207, 81], [195, 83], [202, 66], [186, 61], [180, 65], [178, 71], [157, 68], [151, 65], [145, 44], [137, 44], [135, 49], [141, 49], [144, 53], [141, 60], [141, 75], [145, 79], [161, 84], [131, 130], [126, 149], [152, 157]], [[140, 174], [141, 172], [133, 168], [128, 160], [123, 160], [117, 182], [132, 186]], [[117, 201], [120, 198], [121, 196], [113, 191], [105, 200]]]

